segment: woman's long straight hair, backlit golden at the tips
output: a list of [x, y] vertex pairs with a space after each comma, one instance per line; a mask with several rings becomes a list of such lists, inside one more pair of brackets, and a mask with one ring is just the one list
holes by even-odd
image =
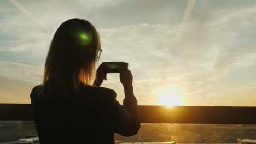
[[101, 49], [100, 35], [83, 19], [63, 22], [54, 34], [44, 65], [43, 91], [71, 94], [90, 85]]

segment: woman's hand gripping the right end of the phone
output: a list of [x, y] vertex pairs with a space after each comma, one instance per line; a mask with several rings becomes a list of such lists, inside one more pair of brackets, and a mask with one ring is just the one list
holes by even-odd
[[120, 68], [120, 82], [123, 84], [124, 88], [132, 87], [132, 74], [128, 69], [128, 63], [124, 63]]

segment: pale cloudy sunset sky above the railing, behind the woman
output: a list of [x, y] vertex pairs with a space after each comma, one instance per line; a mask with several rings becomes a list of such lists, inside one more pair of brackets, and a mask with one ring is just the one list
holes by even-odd
[[[129, 63], [139, 105], [256, 106], [256, 1], [0, 2], [0, 103], [30, 103], [62, 22], [90, 21], [100, 62]], [[122, 104], [118, 74], [103, 87]]]

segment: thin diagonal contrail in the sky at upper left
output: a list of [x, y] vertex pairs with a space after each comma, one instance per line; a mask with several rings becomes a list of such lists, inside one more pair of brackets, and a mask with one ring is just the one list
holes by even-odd
[[40, 20], [37, 19], [36, 16], [34, 16], [30, 11], [28, 11], [25, 7], [23, 7], [23, 5], [21, 5], [18, 1], [16, 0], [10, 0], [11, 3], [13, 3], [13, 5], [15, 5], [19, 10], [21, 10], [24, 14], [26, 14], [28, 17], [30, 17], [34, 22], [36, 22], [38, 25], [42, 26], [43, 29], [46, 32], [49, 32], [50, 29], [45, 27], [43, 22], [41, 22]]

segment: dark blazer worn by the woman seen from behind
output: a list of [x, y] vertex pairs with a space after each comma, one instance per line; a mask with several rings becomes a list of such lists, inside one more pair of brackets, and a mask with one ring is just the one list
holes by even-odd
[[83, 86], [72, 97], [61, 97], [41, 92], [42, 86], [30, 95], [41, 144], [115, 143], [114, 133], [132, 136], [141, 127], [134, 95], [126, 95], [122, 106], [113, 89]]

